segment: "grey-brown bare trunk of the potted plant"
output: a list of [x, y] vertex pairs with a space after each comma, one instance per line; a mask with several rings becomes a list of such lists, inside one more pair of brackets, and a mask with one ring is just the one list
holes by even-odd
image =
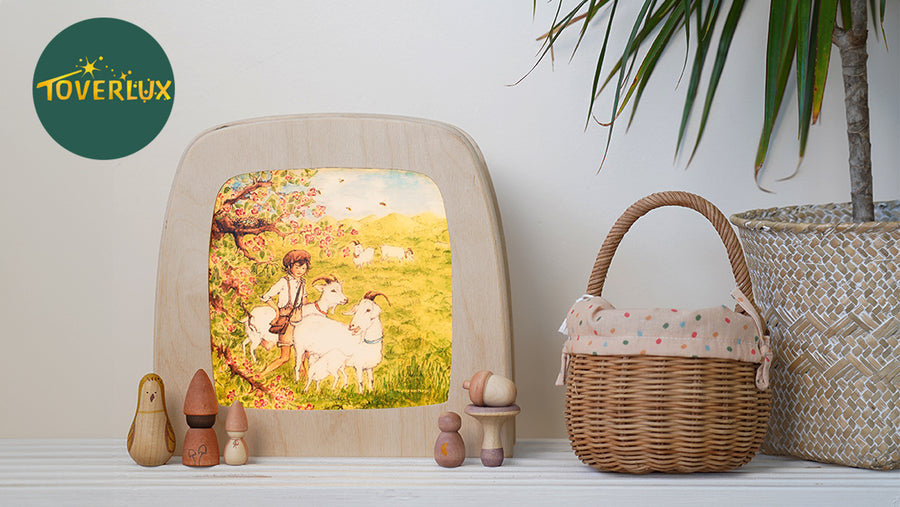
[[[872, 198], [872, 144], [869, 140], [869, 79], [866, 61], [868, 12], [866, 0], [851, 0], [852, 25], [835, 24], [832, 42], [841, 52], [844, 109], [850, 148], [850, 200], [854, 222], [875, 220]], [[845, 24], [847, 20], [844, 20]]]

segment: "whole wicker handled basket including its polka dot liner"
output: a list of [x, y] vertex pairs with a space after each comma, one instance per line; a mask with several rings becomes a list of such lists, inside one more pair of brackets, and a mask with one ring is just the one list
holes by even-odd
[[[613, 254], [631, 225], [663, 206], [705, 216], [723, 241], [740, 308], [617, 309], [601, 297]], [[759, 450], [769, 417], [770, 365], [750, 276], [728, 219], [685, 192], [647, 196], [607, 235], [587, 295], [566, 318], [558, 384], [566, 427], [581, 461], [644, 474], [733, 470]], [[611, 328], [612, 327], [612, 328]]]

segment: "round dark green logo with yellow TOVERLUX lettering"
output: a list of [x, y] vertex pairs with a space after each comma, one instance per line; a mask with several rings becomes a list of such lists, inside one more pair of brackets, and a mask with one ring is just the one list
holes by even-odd
[[121, 158], [162, 130], [175, 77], [162, 47], [114, 18], [75, 23], [47, 44], [34, 69], [34, 108], [63, 148], [86, 158]]

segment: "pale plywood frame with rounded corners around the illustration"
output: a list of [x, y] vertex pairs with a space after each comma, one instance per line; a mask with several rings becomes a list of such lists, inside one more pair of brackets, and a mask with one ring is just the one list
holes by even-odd
[[[512, 378], [512, 329], [506, 256], [490, 176], [464, 132], [399, 117], [290, 116], [223, 125], [200, 135], [175, 175], [160, 246], [156, 371], [167, 386], [169, 414], [181, 444], [184, 393], [198, 368], [213, 377], [208, 254], [217, 192], [251, 171], [290, 168], [378, 168], [430, 177], [444, 199], [453, 266], [453, 352], [446, 403], [413, 408], [335, 411], [248, 409], [251, 453], [259, 456], [430, 456], [437, 418], [463, 416], [470, 456], [481, 445], [478, 424], [463, 415], [463, 380], [480, 369]], [[226, 408], [216, 429], [225, 441]], [[527, 408], [525, 408], [527, 411]], [[468, 420], [467, 420], [468, 419]], [[511, 453], [514, 424], [505, 431]]]

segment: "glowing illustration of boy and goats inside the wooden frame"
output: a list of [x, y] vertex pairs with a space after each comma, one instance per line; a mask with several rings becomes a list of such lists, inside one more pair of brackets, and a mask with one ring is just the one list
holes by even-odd
[[400, 170], [229, 179], [213, 213], [209, 308], [221, 405], [447, 401], [452, 271], [440, 191]]

